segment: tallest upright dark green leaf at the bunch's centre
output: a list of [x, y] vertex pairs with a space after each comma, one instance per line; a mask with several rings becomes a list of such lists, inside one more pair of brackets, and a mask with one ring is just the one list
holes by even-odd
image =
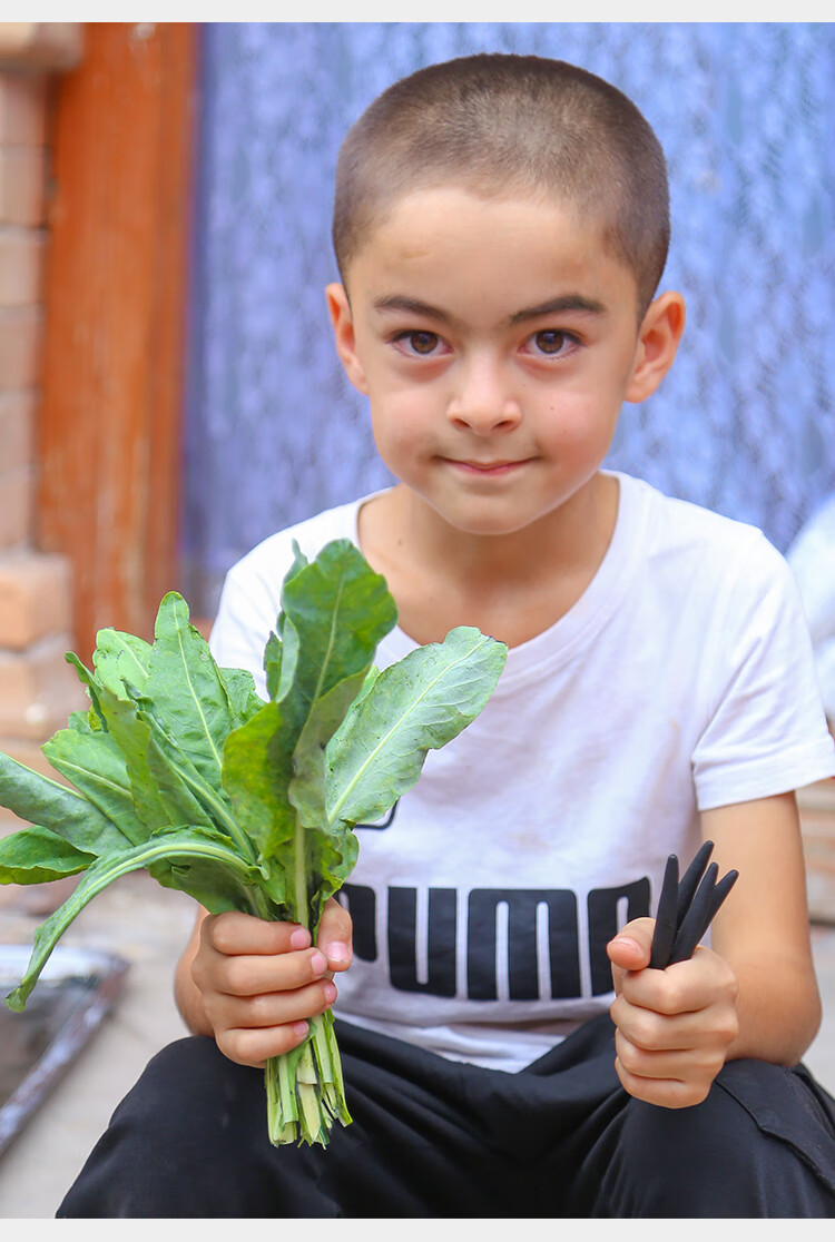
[[[265, 887], [287, 918], [316, 927], [355, 861], [355, 842], [324, 817], [324, 748], [363, 688], [396, 621], [385, 580], [347, 539], [311, 564], [296, 549], [267, 643], [275, 696], [224, 750], [224, 787], [257, 842]], [[280, 667], [278, 667], [280, 666]]]

